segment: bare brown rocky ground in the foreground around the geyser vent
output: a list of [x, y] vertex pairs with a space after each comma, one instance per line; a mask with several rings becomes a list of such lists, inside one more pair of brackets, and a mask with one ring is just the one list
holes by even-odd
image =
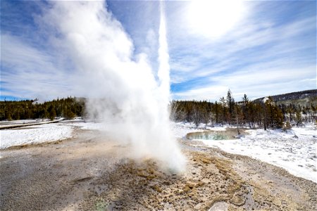
[[180, 140], [178, 175], [95, 131], [75, 133], [1, 151], [0, 210], [317, 209], [316, 183], [258, 160]]

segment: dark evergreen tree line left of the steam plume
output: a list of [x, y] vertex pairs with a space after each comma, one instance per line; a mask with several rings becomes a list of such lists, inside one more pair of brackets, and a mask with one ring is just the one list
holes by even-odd
[[26, 120], [64, 117], [72, 119], [85, 115], [85, 98], [61, 98], [44, 103], [35, 100], [0, 101], [0, 120]]

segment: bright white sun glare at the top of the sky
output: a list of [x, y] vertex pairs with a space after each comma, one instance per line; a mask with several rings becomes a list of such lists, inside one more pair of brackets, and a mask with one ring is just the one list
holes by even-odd
[[187, 8], [187, 23], [191, 33], [205, 37], [220, 37], [242, 18], [241, 0], [194, 0]]

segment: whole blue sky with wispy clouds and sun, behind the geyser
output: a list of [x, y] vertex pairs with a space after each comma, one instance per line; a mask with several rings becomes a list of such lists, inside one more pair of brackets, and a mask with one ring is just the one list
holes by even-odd
[[[217, 101], [230, 89], [239, 101], [316, 89], [316, 1], [213, 2], [166, 2], [172, 98]], [[82, 95], [50, 7], [1, 1], [1, 100]], [[155, 72], [159, 2], [107, 1], [106, 9], [131, 40], [132, 60], [145, 53]]]

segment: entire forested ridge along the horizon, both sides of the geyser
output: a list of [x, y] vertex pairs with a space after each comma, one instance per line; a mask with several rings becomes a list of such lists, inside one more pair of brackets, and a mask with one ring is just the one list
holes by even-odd
[[[302, 122], [316, 122], [316, 90], [298, 91], [279, 96], [309, 96], [305, 106], [296, 103], [277, 103], [272, 96], [250, 101], [246, 94], [235, 101], [230, 89], [218, 101], [172, 101], [170, 119], [176, 122], [204, 124], [233, 124], [249, 128], [281, 128]], [[295, 98], [296, 99], [296, 98]], [[25, 120], [37, 118], [86, 116], [86, 98], [57, 98], [39, 103], [35, 100], [0, 101], [0, 120]], [[296, 102], [296, 101], [291, 101]]]

